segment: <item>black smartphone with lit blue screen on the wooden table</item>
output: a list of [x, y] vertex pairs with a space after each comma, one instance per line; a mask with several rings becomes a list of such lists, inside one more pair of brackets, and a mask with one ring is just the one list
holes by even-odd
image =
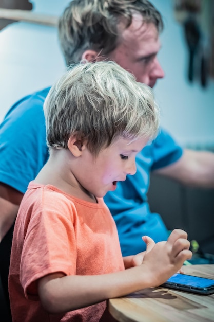
[[207, 295], [214, 293], [214, 279], [176, 273], [161, 287]]

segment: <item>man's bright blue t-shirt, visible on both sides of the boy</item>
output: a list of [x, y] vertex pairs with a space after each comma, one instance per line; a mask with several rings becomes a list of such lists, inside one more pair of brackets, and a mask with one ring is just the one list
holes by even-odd
[[[49, 90], [50, 87], [15, 103], [0, 124], [0, 182], [22, 193], [49, 157], [43, 112]], [[124, 256], [145, 249], [143, 235], [156, 242], [167, 239], [168, 231], [161, 217], [149, 209], [149, 173], [175, 162], [181, 155], [182, 149], [161, 130], [157, 139], [137, 155], [137, 173], [128, 175], [125, 182], [119, 182], [117, 189], [105, 196]]]

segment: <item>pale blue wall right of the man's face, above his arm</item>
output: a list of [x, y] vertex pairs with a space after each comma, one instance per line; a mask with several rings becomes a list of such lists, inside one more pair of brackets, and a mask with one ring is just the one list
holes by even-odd
[[161, 107], [162, 126], [184, 146], [214, 147], [214, 81], [202, 88], [199, 80], [187, 81], [188, 50], [182, 26], [174, 19], [172, 0], [152, 0], [164, 17], [159, 57], [165, 78], [155, 95]]

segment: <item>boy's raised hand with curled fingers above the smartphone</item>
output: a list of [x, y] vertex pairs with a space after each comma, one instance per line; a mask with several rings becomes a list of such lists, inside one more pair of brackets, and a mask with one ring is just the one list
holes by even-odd
[[148, 236], [144, 236], [143, 240], [147, 249], [142, 265], [147, 268], [148, 278], [154, 287], [161, 285], [178, 272], [184, 261], [192, 256], [187, 233], [181, 229], [174, 229], [167, 241], [157, 244], [154, 244]]

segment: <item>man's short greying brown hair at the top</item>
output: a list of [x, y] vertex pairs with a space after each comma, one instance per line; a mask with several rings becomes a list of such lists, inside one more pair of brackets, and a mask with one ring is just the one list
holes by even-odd
[[147, 0], [72, 0], [59, 21], [59, 40], [67, 65], [82, 59], [91, 49], [108, 55], [121, 42], [122, 31], [132, 22], [133, 13], [143, 23], [163, 29], [160, 12]]

